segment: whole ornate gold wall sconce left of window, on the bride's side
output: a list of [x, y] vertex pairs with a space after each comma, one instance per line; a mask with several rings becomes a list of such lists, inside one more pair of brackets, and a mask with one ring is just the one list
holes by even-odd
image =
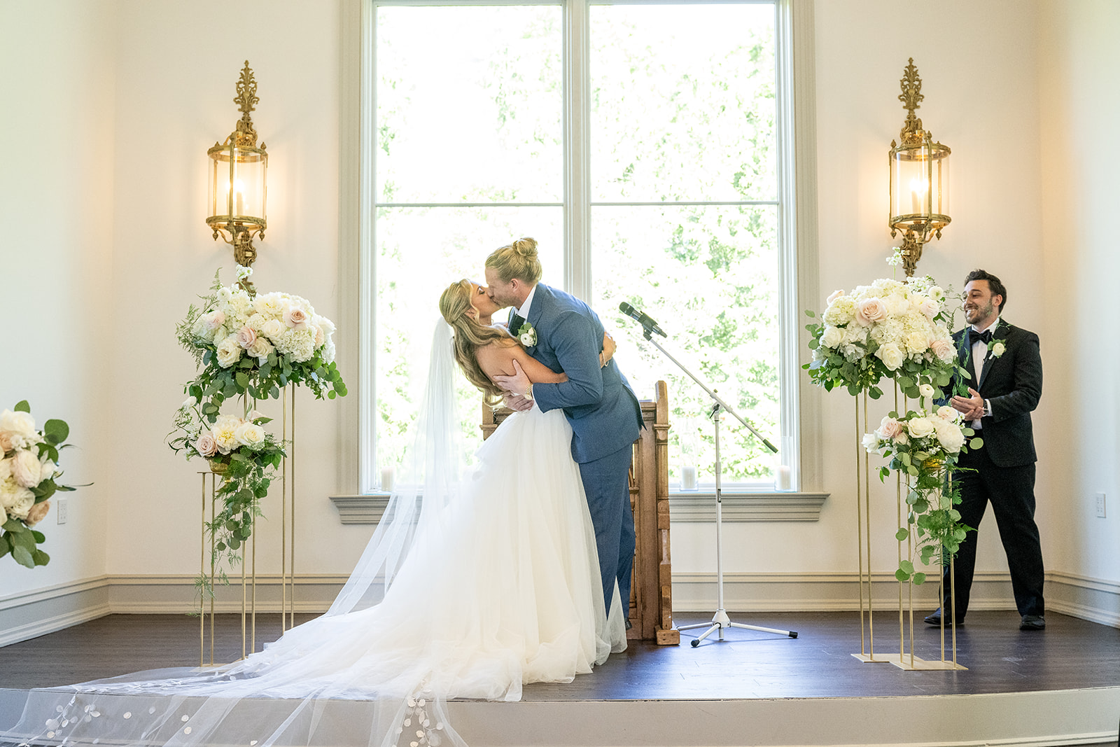
[[[218, 236], [233, 245], [233, 256], [237, 264], [250, 267], [256, 259], [253, 237], [264, 239], [265, 180], [269, 155], [264, 143], [256, 147], [256, 130], [250, 116], [260, 99], [256, 96], [256, 78], [245, 60], [245, 67], [237, 80], [237, 95], [233, 103], [241, 111], [237, 125], [224, 143], [215, 142], [206, 151], [209, 157], [209, 214], [206, 225]], [[252, 283], [242, 281], [245, 290], [252, 292]]]

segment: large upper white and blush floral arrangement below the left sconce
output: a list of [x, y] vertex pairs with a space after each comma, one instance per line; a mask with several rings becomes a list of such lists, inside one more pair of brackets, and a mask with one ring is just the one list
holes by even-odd
[[237, 395], [280, 399], [280, 389], [306, 384], [318, 399], [346, 395], [335, 366], [335, 325], [311, 304], [289, 293], [251, 295], [240, 283], [252, 274], [237, 268], [239, 283], [224, 287], [221, 271], [202, 306], [190, 305], [176, 327], [179, 343], [195, 356], [198, 375], [185, 391], [214, 422], [222, 402]]

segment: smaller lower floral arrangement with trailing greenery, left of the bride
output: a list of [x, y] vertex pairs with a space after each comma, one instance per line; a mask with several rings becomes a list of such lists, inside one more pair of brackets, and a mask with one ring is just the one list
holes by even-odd
[[284, 457], [283, 445], [263, 428], [271, 418], [255, 410], [244, 418], [218, 415], [213, 424], [206, 420], [202, 405], [187, 399], [175, 413], [175, 430], [169, 433], [174, 438], [168, 443], [187, 459], [206, 459], [211, 470], [223, 476], [215, 494], [222, 510], [206, 531], [215, 540], [215, 555], [228, 551], [230, 560], [236, 561], [234, 553], [252, 534], [253, 519], [261, 515], [260, 501], [268, 495], [272, 470]]

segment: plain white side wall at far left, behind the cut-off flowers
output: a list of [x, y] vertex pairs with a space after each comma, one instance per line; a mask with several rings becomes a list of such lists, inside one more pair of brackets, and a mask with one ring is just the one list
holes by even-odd
[[54, 511], [39, 525], [48, 566], [0, 559], [0, 597], [103, 572], [109, 461], [133, 446], [106, 438], [119, 385], [106, 364], [123, 327], [109, 297], [113, 20], [108, 2], [0, 3], [0, 409], [26, 399], [38, 427], [66, 420], [77, 448], [62, 455], [62, 482], [94, 483], [59, 494], [65, 525]]

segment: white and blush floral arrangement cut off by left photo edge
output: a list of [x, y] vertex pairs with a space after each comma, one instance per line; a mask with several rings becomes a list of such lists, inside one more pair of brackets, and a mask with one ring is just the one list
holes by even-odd
[[20, 566], [35, 568], [50, 562], [39, 550], [46, 535], [32, 529], [50, 511], [50, 496], [73, 487], [55, 482], [60, 477], [58, 451], [66, 446], [69, 426], [48, 420], [35, 429], [27, 400], [0, 413], [0, 558], [9, 552]]

